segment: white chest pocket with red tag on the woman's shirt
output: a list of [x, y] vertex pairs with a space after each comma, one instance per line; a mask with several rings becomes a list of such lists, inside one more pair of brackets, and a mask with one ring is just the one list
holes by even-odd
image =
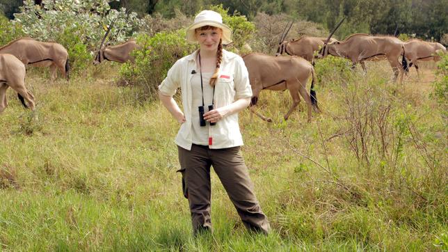
[[235, 84], [233, 74], [221, 72], [218, 74], [215, 88], [216, 107], [223, 107], [234, 102]]

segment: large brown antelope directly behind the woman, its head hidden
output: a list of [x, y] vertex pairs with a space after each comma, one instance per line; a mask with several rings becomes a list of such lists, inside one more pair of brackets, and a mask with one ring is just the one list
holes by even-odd
[[[311, 121], [311, 109], [319, 111], [317, 106], [316, 92], [314, 91], [314, 68], [297, 56], [269, 56], [260, 53], [250, 53], [243, 56], [243, 61], [248, 68], [250, 86], [252, 86], [252, 101], [250, 102], [250, 111], [259, 118], [271, 122], [271, 118], [266, 118], [255, 111], [258, 95], [261, 90], [289, 90], [293, 104], [285, 114], [285, 120], [296, 109], [300, 102], [300, 95], [307, 104], [308, 122]], [[310, 95], [306, 90], [307, 80], [312, 76]]]

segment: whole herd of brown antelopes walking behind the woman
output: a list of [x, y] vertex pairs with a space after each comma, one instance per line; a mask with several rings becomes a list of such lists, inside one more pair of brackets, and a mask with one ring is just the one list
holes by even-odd
[[[285, 120], [291, 115], [300, 103], [300, 96], [307, 104], [307, 121], [311, 121], [312, 109], [319, 111], [317, 96], [314, 91], [315, 72], [314, 60], [328, 55], [347, 58], [352, 61], [353, 67], [360, 63], [365, 68], [365, 61], [389, 61], [394, 72], [394, 79], [403, 80], [403, 74], [414, 65], [419, 75], [418, 61], [439, 61], [440, 53], [446, 53], [445, 46], [438, 42], [426, 42], [411, 39], [402, 42], [392, 36], [371, 36], [364, 33], [355, 33], [345, 40], [338, 41], [333, 33], [342, 24], [344, 19], [337, 24], [328, 38], [316, 38], [303, 36], [291, 41], [285, 38], [291, 29], [287, 24], [280, 36], [278, 49], [275, 56], [261, 53], [249, 53], [243, 55], [243, 61], [248, 68], [250, 85], [253, 90], [250, 111], [259, 118], [271, 122], [255, 111], [258, 95], [261, 90], [289, 90], [293, 104], [285, 114]], [[125, 63], [134, 62], [131, 52], [138, 48], [135, 40], [128, 40], [120, 45], [104, 45], [104, 41], [111, 31], [113, 22], [106, 31], [99, 49], [95, 54], [94, 65], [102, 61], [115, 61]], [[289, 27], [288, 27], [289, 26]], [[282, 56], [287, 54], [287, 56]], [[401, 57], [401, 61], [399, 58]], [[31, 110], [35, 108], [34, 97], [26, 90], [25, 65], [37, 67], [49, 67], [51, 80], [56, 78], [56, 69], [69, 80], [69, 59], [67, 50], [56, 42], [40, 42], [32, 38], [19, 38], [0, 47], [0, 113], [6, 108], [6, 90], [8, 87], [17, 92], [19, 100], [24, 107]], [[312, 78], [310, 93], [307, 93], [307, 80]], [[299, 96], [300, 95], [300, 96]], [[26, 105], [26, 102], [28, 105]]]

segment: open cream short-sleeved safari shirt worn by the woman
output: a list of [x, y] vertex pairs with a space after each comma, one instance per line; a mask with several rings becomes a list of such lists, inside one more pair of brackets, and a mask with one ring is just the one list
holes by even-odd
[[[192, 90], [191, 74], [196, 69], [196, 54], [198, 51], [179, 59], [168, 71], [166, 78], [159, 85], [159, 91], [163, 95], [173, 96], [177, 88], [182, 88], [182, 105], [184, 107], [185, 123], [180, 126], [175, 143], [180, 147], [191, 150], [193, 144], [191, 134], [191, 110]], [[234, 101], [252, 97], [252, 89], [249, 84], [249, 74], [244, 65], [243, 58], [223, 49], [223, 60], [218, 72], [218, 80], [215, 88], [215, 107], [220, 108]], [[243, 145], [243, 138], [239, 131], [238, 113], [225, 116], [216, 125], [210, 127], [209, 137], [212, 139], [211, 149], [231, 148]]]

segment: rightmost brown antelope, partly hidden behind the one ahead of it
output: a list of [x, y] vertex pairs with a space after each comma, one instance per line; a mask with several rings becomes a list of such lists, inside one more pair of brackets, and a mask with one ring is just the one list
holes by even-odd
[[439, 54], [447, 53], [447, 49], [438, 42], [426, 42], [418, 39], [407, 40], [403, 43], [405, 56], [409, 60], [409, 68], [413, 65], [420, 76], [417, 61], [440, 61], [442, 58]]

